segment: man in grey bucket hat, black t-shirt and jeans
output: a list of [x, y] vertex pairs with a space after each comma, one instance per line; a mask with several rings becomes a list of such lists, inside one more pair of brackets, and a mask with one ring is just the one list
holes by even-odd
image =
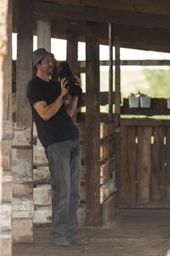
[[65, 108], [67, 79], [60, 83], [50, 79], [54, 55], [46, 49], [33, 52], [33, 67], [37, 75], [27, 84], [26, 94], [54, 187], [51, 239], [55, 246], [87, 245], [77, 235], [81, 155], [78, 130], [71, 116], [77, 108], [78, 96], [71, 97]]

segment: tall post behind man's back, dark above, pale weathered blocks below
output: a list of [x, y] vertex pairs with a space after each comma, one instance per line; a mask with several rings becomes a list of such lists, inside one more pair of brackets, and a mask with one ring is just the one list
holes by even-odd
[[[33, 0], [18, 1], [18, 40], [16, 61], [16, 125], [13, 140], [13, 241], [33, 241], [32, 119], [26, 98], [26, 85], [32, 78]], [[29, 199], [22, 194], [27, 183]], [[18, 207], [20, 205], [20, 208]], [[18, 209], [15, 211], [14, 209]]]

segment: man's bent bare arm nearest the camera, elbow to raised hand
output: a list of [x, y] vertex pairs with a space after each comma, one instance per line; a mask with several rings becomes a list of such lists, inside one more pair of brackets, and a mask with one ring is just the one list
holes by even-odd
[[44, 121], [48, 121], [48, 119], [52, 118], [59, 111], [59, 108], [63, 104], [63, 97], [68, 92], [68, 89], [65, 88], [66, 83], [66, 79], [61, 81], [61, 94], [51, 104], [47, 104], [44, 101], [34, 103], [34, 108]]

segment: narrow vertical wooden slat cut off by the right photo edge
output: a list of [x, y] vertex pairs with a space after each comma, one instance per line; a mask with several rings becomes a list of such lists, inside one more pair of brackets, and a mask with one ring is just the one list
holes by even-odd
[[170, 201], [170, 127], [166, 129], [165, 145], [165, 201]]

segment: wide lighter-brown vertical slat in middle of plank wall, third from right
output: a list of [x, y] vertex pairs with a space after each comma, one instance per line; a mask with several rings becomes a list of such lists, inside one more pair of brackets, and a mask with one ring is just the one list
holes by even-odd
[[137, 196], [139, 203], [150, 202], [151, 127], [138, 127]]

